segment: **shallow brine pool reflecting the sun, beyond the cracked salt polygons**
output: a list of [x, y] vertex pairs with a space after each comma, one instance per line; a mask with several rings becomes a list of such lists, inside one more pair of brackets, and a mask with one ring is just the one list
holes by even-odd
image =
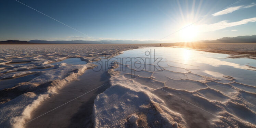
[[[256, 68], [253, 67], [256, 60], [231, 59], [228, 56], [227, 54], [184, 48], [148, 47], [128, 50], [115, 58], [118, 61], [122, 58], [123, 63], [128, 64], [129, 68], [135, 69], [139, 76], [142, 74], [139, 73], [140, 71], [146, 71], [152, 73], [153, 79], [162, 82], [170, 79], [203, 80], [212, 78], [212, 80], [223, 84], [238, 82], [256, 86]], [[129, 58], [132, 62], [126, 61]], [[165, 79], [164, 76], [168, 79]]]

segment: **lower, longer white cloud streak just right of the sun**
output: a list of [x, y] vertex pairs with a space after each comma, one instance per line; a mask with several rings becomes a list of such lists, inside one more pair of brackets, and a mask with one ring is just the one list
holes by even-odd
[[237, 22], [220, 21], [214, 24], [202, 24], [202, 25], [197, 25], [197, 28], [199, 29], [200, 32], [209, 32], [209, 31], [224, 29], [227, 27], [247, 24], [249, 22], [256, 22], [256, 17], [244, 19]]

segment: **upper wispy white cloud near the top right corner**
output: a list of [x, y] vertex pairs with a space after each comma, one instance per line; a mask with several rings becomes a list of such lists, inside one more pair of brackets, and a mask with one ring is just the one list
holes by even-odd
[[239, 10], [239, 9], [251, 8], [251, 7], [254, 7], [255, 5], [256, 5], [255, 3], [251, 3], [250, 5], [247, 5], [247, 6], [240, 5], [240, 6], [230, 7], [230, 8], [221, 10], [221, 11], [219, 11], [219, 12], [216, 12], [216, 13], [214, 13], [214, 14], [212, 14], [212, 15], [213, 15], [213, 16], [224, 15], [224, 14], [232, 13], [232, 12], [234, 12], [234, 11], [236, 11], [236, 10]]

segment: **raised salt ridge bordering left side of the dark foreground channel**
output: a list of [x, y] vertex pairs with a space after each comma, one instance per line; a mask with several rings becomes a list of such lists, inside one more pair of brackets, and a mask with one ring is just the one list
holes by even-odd
[[[65, 63], [57, 65], [54, 70], [41, 72], [41, 75], [29, 82], [20, 83], [11, 89], [19, 90], [35, 90], [34, 92], [24, 93], [11, 101], [3, 104], [0, 108], [0, 127], [15, 127], [23, 128], [23, 125], [28, 119], [33, 110], [37, 108], [51, 94], [57, 93], [57, 90], [62, 88], [67, 82], [70, 82], [85, 72], [87, 68], [92, 68], [93, 64], [86, 65], [66, 65]], [[51, 82], [46, 87], [39, 87], [41, 84]], [[44, 91], [42, 88], [46, 88]], [[39, 90], [42, 90], [41, 92]], [[39, 92], [38, 92], [39, 91]], [[14, 114], [15, 113], [15, 114]]]

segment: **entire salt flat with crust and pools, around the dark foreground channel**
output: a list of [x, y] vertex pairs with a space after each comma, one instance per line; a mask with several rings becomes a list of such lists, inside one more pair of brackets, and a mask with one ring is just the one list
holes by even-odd
[[[26, 127], [23, 124], [40, 105], [47, 106], [44, 103], [54, 95], [68, 92], [60, 90], [87, 69], [103, 66], [99, 62], [107, 58], [130, 57], [136, 61], [117, 59], [114, 65], [105, 65], [111, 67], [105, 70], [111, 87], [95, 98], [91, 126], [256, 127], [256, 71], [251, 53], [255, 44], [246, 45], [243, 52], [237, 51], [240, 44], [237, 49], [223, 48], [237, 51], [232, 56], [203, 48], [172, 48], [174, 44], [1, 45], [0, 126]], [[145, 54], [150, 50], [162, 58], [159, 63], [147, 63], [146, 58], [153, 59]], [[243, 54], [246, 51], [251, 55]]]

